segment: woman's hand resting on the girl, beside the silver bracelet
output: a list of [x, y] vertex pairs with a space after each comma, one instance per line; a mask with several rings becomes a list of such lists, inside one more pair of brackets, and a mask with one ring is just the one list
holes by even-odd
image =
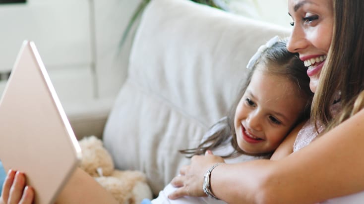
[[202, 190], [203, 176], [215, 163], [224, 162], [220, 156], [215, 156], [211, 151], [205, 155], [193, 156], [189, 166], [183, 166], [179, 176], [176, 176], [171, 184], [179, 189], [168, 196], [169, 199], [177, 199], [182, 196], [203, 197], [206, 194]]

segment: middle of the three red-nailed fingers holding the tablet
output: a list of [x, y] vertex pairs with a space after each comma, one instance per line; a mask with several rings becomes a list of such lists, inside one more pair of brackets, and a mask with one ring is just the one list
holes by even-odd
[[17, 171], [15, 179], [10, 188], [8, 204], [18, 204], [25, 187], [25, 175], [24, 173]]

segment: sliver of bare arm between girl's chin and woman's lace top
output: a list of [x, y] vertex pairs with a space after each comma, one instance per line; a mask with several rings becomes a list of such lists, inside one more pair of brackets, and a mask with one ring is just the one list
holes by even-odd
[[305, 123], [306, 121], [301, 122], [287, 135], [287, 137], [279, 145], [277, 150], [275, 150], [270, 157], [271, 160], [278, 160], [293, 153], [293, 144], [295, 143], [298, 132], [300, 132], [301, 128]]

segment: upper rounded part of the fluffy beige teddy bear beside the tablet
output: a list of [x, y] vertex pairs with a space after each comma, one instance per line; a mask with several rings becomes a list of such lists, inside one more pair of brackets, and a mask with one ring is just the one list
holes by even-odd
[[82, 158], [79, 167], [93, 177], [109, 176], [114, 171], [110, 153], [95, 136], [84, 137], [79, 141]]

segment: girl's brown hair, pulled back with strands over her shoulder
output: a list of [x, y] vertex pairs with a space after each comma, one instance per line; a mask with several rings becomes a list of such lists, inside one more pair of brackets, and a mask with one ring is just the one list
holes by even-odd
[[[300, 95], [302, 100], [307, 100], [306, 106], [295, 124], [309, 117], [310, 104], [313, 94], [309, 89], [309, 78], [306, 74], [307, 69], [304, 67], [303, 62], [299, 59], [297, 53], [292, 53], [287, 51], [286, 41], [285, 40], [279, 41], [275, 43], [272, 47], [263, 51], [259, 59], [255, 62], [253, 68], [250, 70], [243, 88], [240, 90], [235, 102], [232, 104], [230, 111], [228, 112], [227, 119], [224, 121], [220, 121], [226, 123], [225, 128], [222, 128], [213, 135], [211, 135], [209, 138], [203, 141], [197, 148], [181, 150], [180, 151], [181, 153], [187, 154], [187, 157], [203, 154], [207, 150], [211, 150], [218, 147], [223, 142], [229, 140], [232, 137], [231, 143], [235, 151], [227, 155], [220, 155], [220, 156], [231, 157], [239, 155], [241, 153], [248, 154], [243, 152], [238, 146], [235, 127], [234, 127], [234, 116], [238, 103], [243, 97], [243, 94], [246, 88], [248, 87], [251, 81], [251, 77], [254, 71], [256, 70], [258, 64], [264, 65], [264, 66], [259, 66], [259, 71], [287, 77], [293, 84], [295, 84], [295, 87], [297, 89], [296, 93]], [[266, 154], [267, 153], [264, 153], [264, 155]]]

